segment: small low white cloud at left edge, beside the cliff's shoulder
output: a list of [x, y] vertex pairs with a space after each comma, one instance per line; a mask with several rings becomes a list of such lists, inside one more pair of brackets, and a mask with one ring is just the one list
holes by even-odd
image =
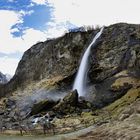
[[14, 75], [19, 60], [8, 57], [0, 57], [0, 71], [4, 74]]

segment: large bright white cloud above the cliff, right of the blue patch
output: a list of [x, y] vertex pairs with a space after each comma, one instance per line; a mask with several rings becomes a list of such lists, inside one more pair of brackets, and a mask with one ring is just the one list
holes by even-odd
[[139, 0], [48, 0], [54, 22], [74, 25], [109, 25], [116, 22], [140, 23]]

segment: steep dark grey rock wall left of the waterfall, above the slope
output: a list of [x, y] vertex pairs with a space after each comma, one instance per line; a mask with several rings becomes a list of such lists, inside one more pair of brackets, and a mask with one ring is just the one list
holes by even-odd
[[24, 53], [10, 85], [16, 88], [33, 81], [73, 75], [93, 34], [92, 31], [67, 33], [35, 44]]

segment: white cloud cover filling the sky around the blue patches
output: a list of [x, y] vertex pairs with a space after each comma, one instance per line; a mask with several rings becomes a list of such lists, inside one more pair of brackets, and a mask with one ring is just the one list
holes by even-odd
[[[15, 0], [9, 0], [14, 2]], [[31, 0], [28, 7], [47, 5], [51, 7], [51, 21], [41, 32], [35, 29], [25, 29], [22, 37], [14, 37], [13, 32], [19, 28], [12, 26], [23, 23], [23, 16], [35, 11], [0, 10], [0, 52], [24, 52], [34, 43], [48, 37], [57, 37], [67, 30], [67, 23], [75, 26], [109, 25], [116, 22], [140, 23], [139, 0]], [[0, 58], [0, 70], [4, 73], [14, 73], [17, 59]], [[11, 66], [12, 64], [12, 66]], [[7, 68], [11, 66], [11, 68]]]

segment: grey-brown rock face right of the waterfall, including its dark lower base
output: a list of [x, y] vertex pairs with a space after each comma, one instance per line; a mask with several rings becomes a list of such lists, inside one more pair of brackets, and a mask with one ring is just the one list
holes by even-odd
[[[140, 78], [140, 25], [106, 27], [92, 48], [88, 76], [89, 84], [95, 84], [95, 106], [103, 107], [125, 95], [137, 83], [132, 79]], [[120, 90], [113, 90], [117, 79], [123, 84]]]

